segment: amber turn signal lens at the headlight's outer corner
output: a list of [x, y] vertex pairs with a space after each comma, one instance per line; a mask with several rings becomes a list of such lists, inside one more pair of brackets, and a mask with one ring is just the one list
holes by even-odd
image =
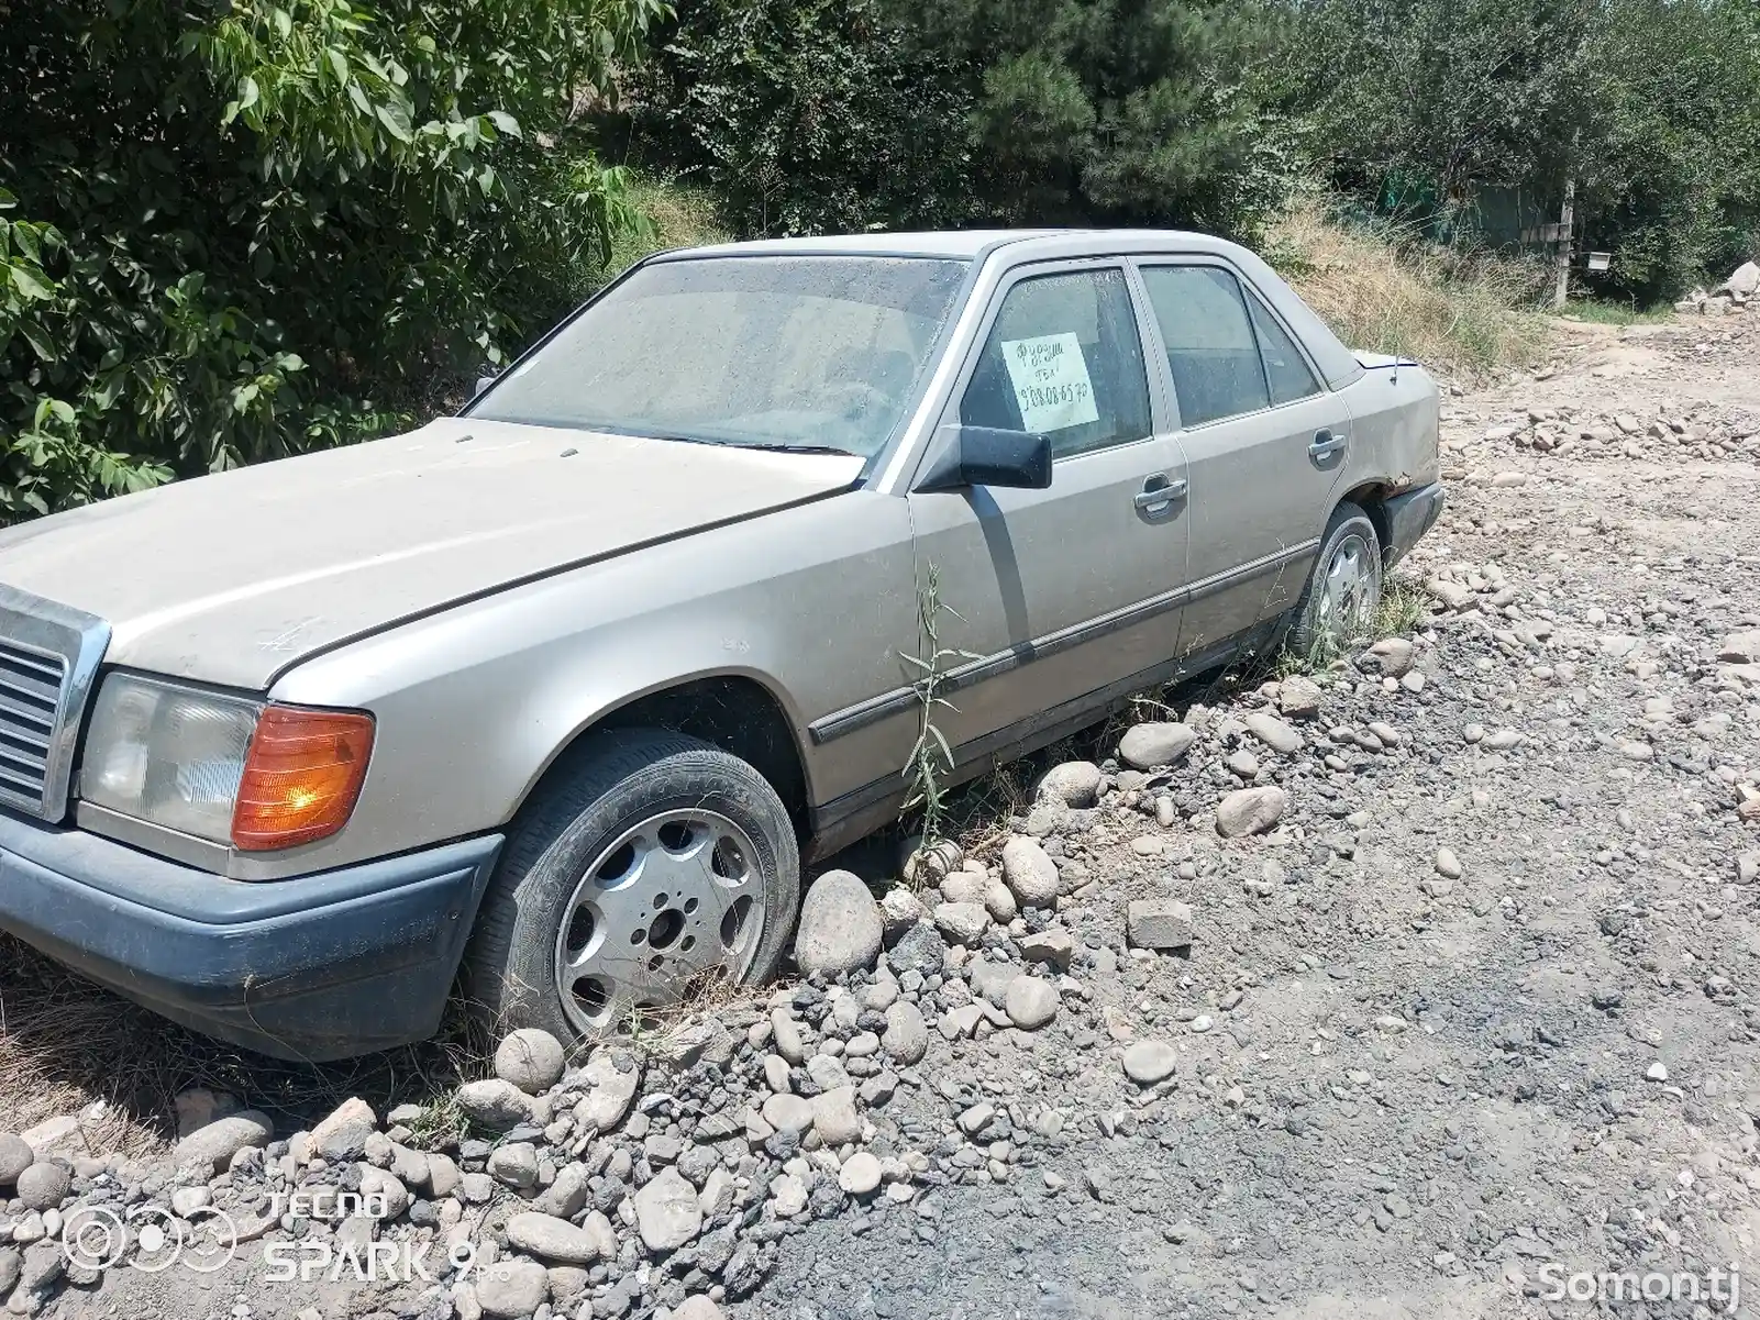
[[290, 848], [348, 824], [373, 752], [373, 716], [266, 706], [245, 755], [232, 843]]

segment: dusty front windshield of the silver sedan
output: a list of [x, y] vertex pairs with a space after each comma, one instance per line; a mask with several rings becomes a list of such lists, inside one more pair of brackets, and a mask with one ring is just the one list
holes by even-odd
[[695, 257], [630, 275], [472, 417], [880, 452], [964, 278], [922, 257]]

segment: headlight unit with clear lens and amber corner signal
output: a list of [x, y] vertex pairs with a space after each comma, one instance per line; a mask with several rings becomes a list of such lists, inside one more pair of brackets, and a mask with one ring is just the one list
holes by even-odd
[[111, 674], [92, 709], [81, 796], [215, 843], [289, 848], [348, 822], [371, 750], [373, 718], [359, 711]]

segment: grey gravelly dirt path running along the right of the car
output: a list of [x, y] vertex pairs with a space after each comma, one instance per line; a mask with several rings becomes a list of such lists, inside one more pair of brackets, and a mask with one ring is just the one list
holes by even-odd
[[[1732, 1264], [1760, 1309], [1760, 889], [1737, 884], [1760, 822], [1734, 811], [1760, 671], [1716, 664], [1760, 625], [1760, 317], [1589, 341], [1448, 405], [1452, 509], [1410, 570], [1448, 570], [1478, 616], [1426, 630], [1420, 693], [1334, 686], [1320, 716], [1401, 746], [1343, 773], [1260, 755], [1292, 803], [1269, 838], [1114, 813], [1068, 838], [1102, 876], [1075, 929], [1118, 950], [1075, 968], [1088, 1012], [931, 1054], [943, 1102], [913, 1133], [987, 1100], [1023, 1133], [1017, 1176], [862, 1237], [815, 1225], [759, 1315], [1588, 1315], [1549, 1301], [1579, 1271], [1709, 1290]], [[1540, 421], [1563, 452], [1526, 444], [1529, 410], [1570, 417]], [[1227, 746], [1181, 778], [1225, 780]], [[1160, 894], [1192, 903], [1192, 956], [1132, 961], [1125, 905]], [[1176, 1044], [1174, 1084], [1125, 1079], [1132, 1038]]]

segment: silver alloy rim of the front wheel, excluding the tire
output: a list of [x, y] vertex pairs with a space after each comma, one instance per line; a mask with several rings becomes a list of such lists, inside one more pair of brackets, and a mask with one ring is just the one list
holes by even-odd
[[556, 931], [561, 1010], [583, 1035], [752, 966], [764, 929], [759, 852], [718, 811], [662, 811], [583, 871]]

